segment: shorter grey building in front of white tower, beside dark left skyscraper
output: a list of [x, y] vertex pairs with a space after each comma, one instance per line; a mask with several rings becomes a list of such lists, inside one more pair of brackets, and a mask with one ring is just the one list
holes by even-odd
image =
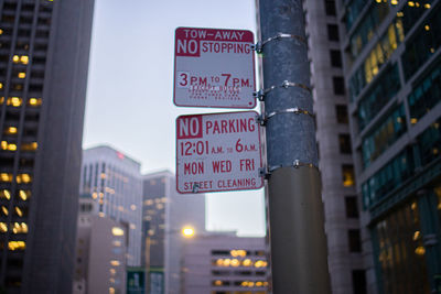
[[123, 294], [128, 227], [94, 214], [97, 205], [90, 194], [79, 196], [73, 293]]

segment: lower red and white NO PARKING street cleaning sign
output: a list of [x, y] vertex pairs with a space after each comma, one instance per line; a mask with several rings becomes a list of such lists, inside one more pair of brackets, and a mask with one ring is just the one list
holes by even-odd
[[257, 112], [176, 119], [176, 189], [205, 193], [262, 187]]

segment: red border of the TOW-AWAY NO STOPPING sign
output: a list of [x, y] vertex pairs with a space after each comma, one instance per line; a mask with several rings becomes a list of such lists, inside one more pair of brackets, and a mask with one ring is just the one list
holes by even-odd
[[[247, 41], [243, 43], [251, 43], [254, 45], [254, 33], [249, 30], [230, 30], [230, 29], [209, 29], [209, 28], [187, 28], [187, 26], [179, 26], [174, 31], [174, 65], [173, 65], [173, 104], [178, 107], [202, 107], [202, 108], [232, 108], [232, 109], [254, 109], [257, 106], [256, 99], [252, 100], [251, 106], [200, 106], [200, 105], [179, 105], [176, 104], [176, 52], [178, 52], [178, 39], [181, 36], [181, 31], [183, 30], [207, 30], [208, 32], [211, 31], [220, 31], [220, 32], [245, 32], [247, 35]], [[204, 39], [204, 40], [211, 40], [212, 37]], [[190, 39], [189, 39], [190, 40]], [[192, 39], [192, 40], [200, 40], [198, 37]], [[214, 39], [213, 39], [214, 40]], [[223, 41], [220, 41], [223, 42]], [[228, 41], [233, 42], [233, 41]], [[236, 41], [239, 42], [239, 41]], [[197, 53], [198, 54], [198, 53]], [[195, 53], [193, 56], [197, 56]], [[185, 56], [192, 56], [191, 54], [185, 55]], [[255, 54], [251, 54], [252, 58], [252, 83], [254, 83], [254, 91], [256, 91], [256, 56]]]

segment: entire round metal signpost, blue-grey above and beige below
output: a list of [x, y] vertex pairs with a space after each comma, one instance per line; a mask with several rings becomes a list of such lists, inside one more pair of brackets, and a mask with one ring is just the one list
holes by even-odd
[[272, 288], [275, 294], [329, 294], [302, 1], [259, 0], [259, 7]]

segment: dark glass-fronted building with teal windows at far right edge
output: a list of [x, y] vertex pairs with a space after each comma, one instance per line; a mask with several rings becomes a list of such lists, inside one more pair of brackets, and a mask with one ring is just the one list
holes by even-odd
[[441, 1], [338, 1], [368, 293], [441, 293]]

